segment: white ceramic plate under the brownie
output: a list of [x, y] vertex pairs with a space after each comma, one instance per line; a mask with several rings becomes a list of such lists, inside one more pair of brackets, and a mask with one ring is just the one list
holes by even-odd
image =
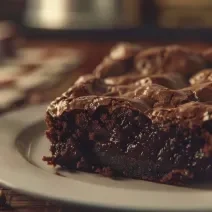
[[[112, 180], [69, 173], [42, 161], [49, 142], [42, 121], [46, 106], [0, 118], [0, 182], [29, 195], [92, 207], [142, 211], [212, 210], [212, 186], [180, 188], [141, 180]], [[58, 174], [59, 173], [59, 174]]]

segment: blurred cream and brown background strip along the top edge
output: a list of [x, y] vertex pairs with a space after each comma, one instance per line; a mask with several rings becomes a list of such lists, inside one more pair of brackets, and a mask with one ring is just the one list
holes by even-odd
[[2, 0], [1, 20], [42, 30], [210, 29], [210, 0]]

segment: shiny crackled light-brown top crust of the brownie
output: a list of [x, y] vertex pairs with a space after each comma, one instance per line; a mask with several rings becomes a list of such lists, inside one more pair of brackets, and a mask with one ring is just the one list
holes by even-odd
[[[201, 125], [212, 118], [212, 69], [205, 55], [171, 45], [144, 49], [120, 43], [48, 107], [59, 117], [75, 109], [119, 105], [146, 114], [152, 122]], [[114, 106], [115, 107], [115, 106]]]

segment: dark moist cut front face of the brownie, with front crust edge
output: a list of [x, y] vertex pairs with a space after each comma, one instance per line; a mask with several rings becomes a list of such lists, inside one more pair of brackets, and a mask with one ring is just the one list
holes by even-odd
[[78, 97], [62, 114], [47, 113], [52, 157], [44, 160], [171, 184], [210, 179], [211, 118], [212, 105], [198, 102], [150, 109], [145, 101]]

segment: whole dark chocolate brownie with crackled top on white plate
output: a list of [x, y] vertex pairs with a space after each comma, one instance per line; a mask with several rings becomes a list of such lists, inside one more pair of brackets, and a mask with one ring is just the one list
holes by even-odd
[[51, 156], [43, 160], [165, 184], [210, 180], [212, 82], [201, 55], [118, 44], [47, 108]]

